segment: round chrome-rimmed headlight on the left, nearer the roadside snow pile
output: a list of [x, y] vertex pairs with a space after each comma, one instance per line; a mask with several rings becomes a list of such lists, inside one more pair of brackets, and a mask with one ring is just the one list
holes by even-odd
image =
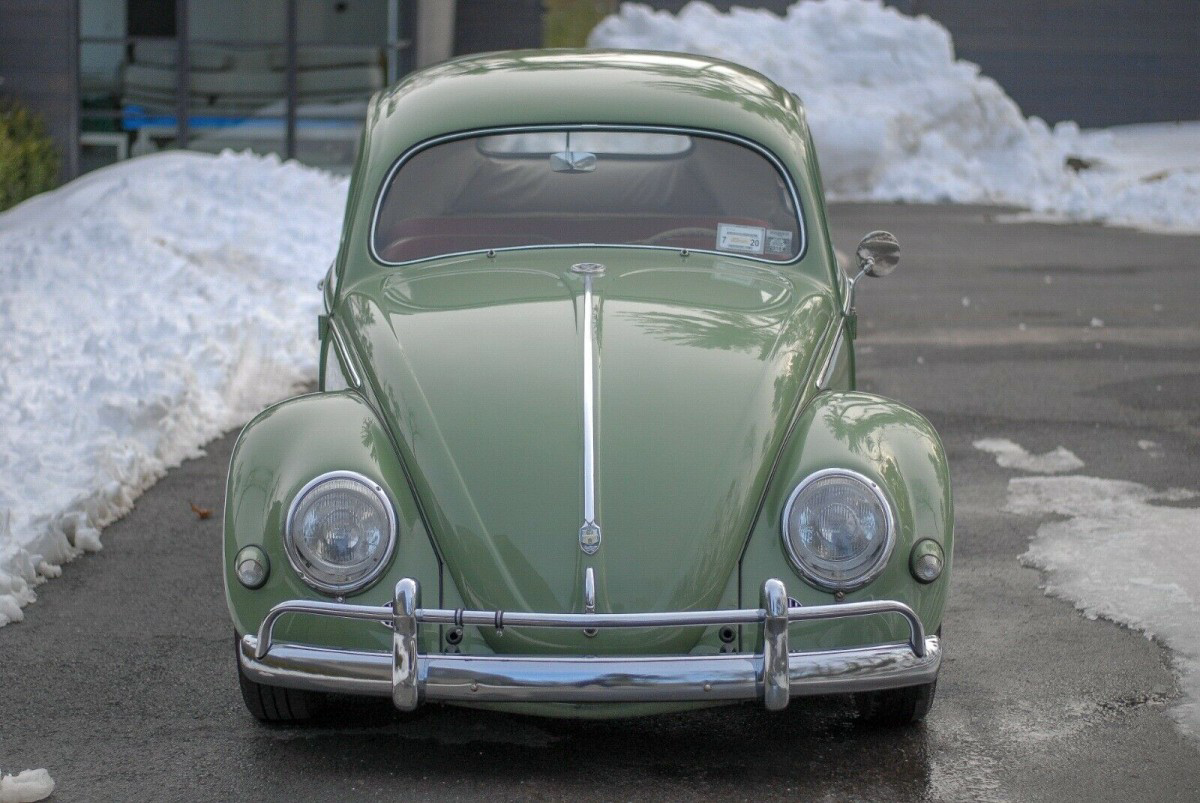
[[396, 545], [396, 513], [377, 483], [330, 472], [305, 485], [288, 510], [292, 567], [323, 592], [344, 594], [379, 576]]

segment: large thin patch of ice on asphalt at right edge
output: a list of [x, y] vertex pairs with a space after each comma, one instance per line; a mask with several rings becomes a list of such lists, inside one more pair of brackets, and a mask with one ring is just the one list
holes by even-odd
[[1008, 483], [1007, 510], [1066, 516], [1038, 526], [1021, 562], [1087, 617], [1168, 645], [1184, 694], [1171, 714], [1200, 738], [1200, 508], [1163, 504], [1198, 497], [1093, 477], [1020, 477]]

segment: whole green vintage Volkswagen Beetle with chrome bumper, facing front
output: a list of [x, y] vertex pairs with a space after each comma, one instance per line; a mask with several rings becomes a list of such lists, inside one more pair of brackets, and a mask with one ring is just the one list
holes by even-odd
[[229, 468], [250, 711], [922, 719], [946, 455], [854, 389], [856, 280], [898, 258], [841, 272], [798, 98], [733, 64], [493, 53], [377, 95], [319, 390]]

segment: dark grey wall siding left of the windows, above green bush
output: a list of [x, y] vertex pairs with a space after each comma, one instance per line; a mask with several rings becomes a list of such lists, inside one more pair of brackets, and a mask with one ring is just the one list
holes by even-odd
[[79, 173], [78, 41], [78, 0], [0, 0], [0, 94], [46, 120], [62, 180]]

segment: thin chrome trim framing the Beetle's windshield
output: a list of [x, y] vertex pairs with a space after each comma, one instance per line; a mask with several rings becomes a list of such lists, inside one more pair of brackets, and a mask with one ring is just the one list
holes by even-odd
[[614, 242], [563, 242], [554, 245], [518, 245], [518, 246], [504, 246], [499, 248], [476, 248], [474, 251], [454, 251], [450, 253], [439, 253], [432, 257], [421, 257], [420, 259], [406, 259], [402, 262], [388, 262], [386, 259], [380, 257], [379, 253], [376, 251], [376, 227], [379, 223], [379, 211], [383, 208], [383, 198], [388, 187], [391, 186], [392, 178], [396, 175], [396, 172], [400, 170], [401, 167], [403, 167], [404, 162], [410, 160], [413, 156], [416, 156], [422, 150], [426, 150], [434, 145], [440, 145], [442, 143], [446, 142], [454, 142], [457, 139], [470, 139], [473, 137], [508, 134], [508, 133], [536, 133], [541, 131], [637, 131], [646, 133], [674, 133], [674, 134], [685, 134], [696, 137], [708, 137], [710, 139], [724, 139], [726, 142], [737, 143], [739, 145], [749, 148], [755, 152], [757, 152], [758, 155], [763, 156], [768, 162], [770, 162], [772, 167], [774, 167], [779, 172], [780, 176], [782, 176], [784, 179], [784, 182], [787, 185], [787, 191], [790, 197], [792, 198], [792, 204], [794, 206], [796, 222], [799, 227], [798, 228], [799, 250], [797, 251], [796, 256], [791, 259], [780, 262], [775, 259], [764, 259], [762, 257], [755, 257], [746, 253], [736, 253], [728, 251], [715, 251], [715, 250], [710, 251], [707, 248], [688, 248], [686, 251], [690, 251], [691, 253], [707, 253], [707, 254], [715, 254], [719, 257], [728, 257], [734, 259], [748, 259], [751, 262], [760, 262], [768, 265], [794, 265], [796, 263], [804, 259], [804, 256], [808, 253], [809, 238], [808, 238], [808, 229], [804, 226], [804, 205], [800, 203], [800, 194], [796, 188], [796, 181], [792, 180], [792, 174], [788, 173], [787, 168], [784, 166], [784, 162], [763, 145], [760, 145], [752, 139], [739, 137], [738, 134], [731, 134], [724, 131], [713, 131], [709, 128], [588, 122], [588, 124], [575, 124], [575, 125], [540, 124], [540, 125], [528, 125], [528, 126], [499, 126], [492, 128], [473, 128], [470, 131], [460, 131], [457, 133], [433, 137], [431, 139], [419, 142], [415, 145], [410, 146], [408, 150], [401, 154], [400, 157], [396, 158], [396, 161], [392, 163], [390, 168], [388, 168], [388, 173], [384, 175], [383, 181], [379, 182], [379, 188], [376, 190], [376, 200], [374, 204], [372, 204], [371, 206], [371, 229], [367, 233], [367, 252], [371, 254], [371, 258], [377, 264], [384, 265], [385, 268], [396, 268], [398, 265], [414, 265], [422, 262], [430, 262], [432, 259], [448, 259], [451, 257], [464, 257], [476, 253], [500, 253], [503, 251], [529, 251], [529, 250], [542, 250], [542, 248], [637, 248], [637, 250], [649, 250], [649, 251], [672, 251], [676, 253], [680, 251], [680, 248], [678, 247], [670, 247], [661, 245], [623, 245]]

